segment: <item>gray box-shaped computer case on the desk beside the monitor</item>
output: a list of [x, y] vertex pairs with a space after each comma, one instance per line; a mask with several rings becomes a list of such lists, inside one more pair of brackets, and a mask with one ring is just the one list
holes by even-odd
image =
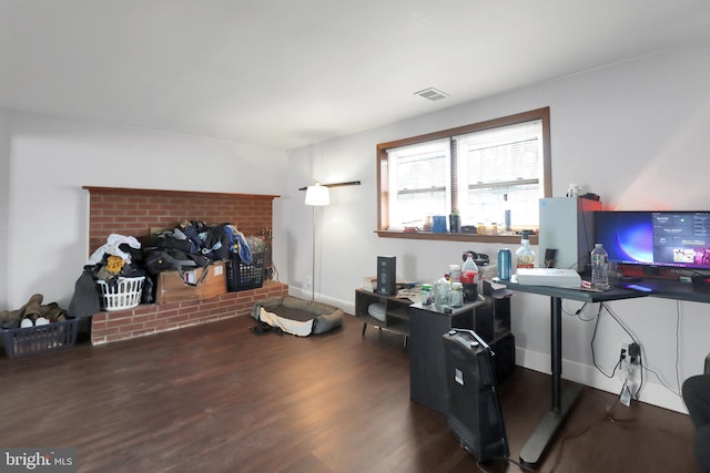
[[586, 271], [589, 253], [595, 247], [596, 210], [601, 210], [599, 200], [580, 197], [541, 198], [538, 267], [545, 267], [545, 251], [555, 248], [556, 268]]

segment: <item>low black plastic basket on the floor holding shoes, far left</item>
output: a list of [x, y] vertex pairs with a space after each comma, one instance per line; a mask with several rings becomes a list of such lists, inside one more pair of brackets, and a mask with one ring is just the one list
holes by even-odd
[[2, 332], [8, 358], [29, 357], [73, 347], [79, 332], [79, 319], [2, 330]]

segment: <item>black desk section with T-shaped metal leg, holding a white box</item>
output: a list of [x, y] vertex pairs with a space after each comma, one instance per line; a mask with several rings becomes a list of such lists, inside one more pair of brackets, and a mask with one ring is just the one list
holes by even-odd
[[500, 281], [509, 289], [538, 294], [550, 297], [550, 331], [552, 358], [552, 407], [542, 417], [537, 428], [520, 451], [520, 462], [526, 465], [536, 465], [547, 450], [555, 433], [565, 421], [567, 413], [579, 398], [582, 387], [577, 383], [568, 384], [561, 389], [562, 374], [562, 299], [579, 300], [582, 302], [604, 302], [608, 300], [630, 299], [645, 297], [649, 294], [628, 289], [612, 288], [604, 292], [584, 289], [564, 289], [548, 286], [528, 286], [517, 282]]

